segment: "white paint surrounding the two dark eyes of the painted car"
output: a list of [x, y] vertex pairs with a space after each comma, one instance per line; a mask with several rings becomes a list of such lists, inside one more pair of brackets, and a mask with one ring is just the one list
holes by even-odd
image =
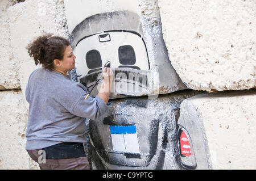
[[[122, 64], [119, 62], [118, 48], [123, 45], [133, 47], [136, 62], [133, 66], [138, 66], [141, 70], [148, 70], [147, 50], [143, 44], [141, 37], [131, 32], [108, 32], [110, 41], [100, 42], [99, 36], [106, 33], [100, 33], [86, 37], [81, 40], [74, 49], [76, 54], [76, 73], [84, 77], [90, 70], [86, 65], [86, 53], [90, 50], [98, 50], [102, 60], [102, 67], [107, 61], [111, 62], [111, 67], [118, 68]], [[102, 68], [100, 67], [100, 68]], [[79, 77], [78, 79], [80, 80]]]

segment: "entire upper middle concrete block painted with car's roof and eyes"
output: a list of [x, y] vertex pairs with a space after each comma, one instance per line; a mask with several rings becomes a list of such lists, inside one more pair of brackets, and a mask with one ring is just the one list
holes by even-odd
[[111, 7], [109, 1], [64, 2], [77, 57], [73, 73], [89, 90], [107, 61], [115, 75], [110, 99], [187, 89], [171, 66], [161, 27], [141, 18], [138, 1], [110, 1]]

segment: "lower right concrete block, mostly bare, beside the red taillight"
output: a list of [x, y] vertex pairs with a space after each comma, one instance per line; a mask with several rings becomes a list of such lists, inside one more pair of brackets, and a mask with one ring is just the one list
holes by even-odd
[[178, 124], [191, 136], [198, 169], [256, 169], [255, 110], [255, 89], [204, 93], [181, 103]]

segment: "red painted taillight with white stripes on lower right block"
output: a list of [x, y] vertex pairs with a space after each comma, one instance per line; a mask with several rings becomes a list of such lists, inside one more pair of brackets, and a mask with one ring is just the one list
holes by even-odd
[[196, 169], [196, 157], [193, 153], [192, 140], [187, 130], [179, 125], [178, 147], [180, 151], [181, 166], [186, 169]]

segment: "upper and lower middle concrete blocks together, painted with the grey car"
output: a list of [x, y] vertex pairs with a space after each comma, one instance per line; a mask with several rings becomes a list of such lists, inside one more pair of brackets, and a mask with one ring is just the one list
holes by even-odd
[[[195, 93], [158, 98], [187, 89], [167, 56], [160, 16], [152, 26], [135, 0], [64, 3], [76, 55], [73, 77], [92, 90], [106, 62], [114, 72], [110, 110], [101, 120], [87, 122], [93, 169], [180, 169], [172, 114]], [[94, 88], [91, 95], [97, 93]]]

